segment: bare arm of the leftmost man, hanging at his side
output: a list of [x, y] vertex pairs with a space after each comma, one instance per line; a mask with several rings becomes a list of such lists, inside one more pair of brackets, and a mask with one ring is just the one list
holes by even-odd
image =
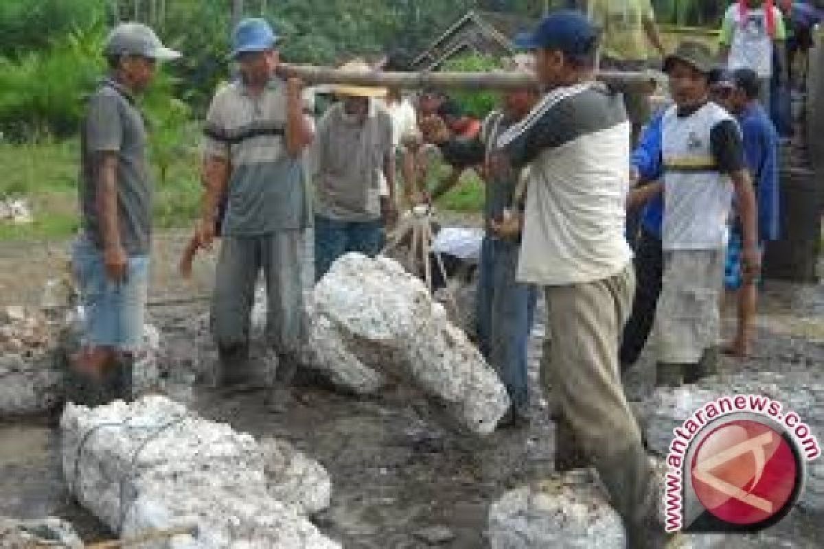
[[100, 217], [106, 274], [123, 280], [128, 258], [120, 241], [117, 209], [117, 153], [101, 152], [97, 159], [97, 215]]

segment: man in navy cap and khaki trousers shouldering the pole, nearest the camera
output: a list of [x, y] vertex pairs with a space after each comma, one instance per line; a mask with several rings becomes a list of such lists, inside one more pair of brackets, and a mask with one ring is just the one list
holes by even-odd
[[597, 32], [582, 13], [555, 12], [522, 39], [546, 94], [499, 138], [529, 175], [522, 221], [498, 230], [522, 224], [517, 278], [545, 286], [551, 345], [541, 378], [559, 407], [556, 469], [592, 463], [627, 547], [662, 547], [658, 492], [618, 365], [634, 291], [625, 239], [630, 123], [621, 95], [593, 79]]

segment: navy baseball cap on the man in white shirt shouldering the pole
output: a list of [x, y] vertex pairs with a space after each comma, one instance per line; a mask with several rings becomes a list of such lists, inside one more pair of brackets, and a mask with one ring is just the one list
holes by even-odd
[[556, 49], [569, 56], [593, 54], [598, 30], [576, 10], [559, 10], [546, 16], [536, 30], [523, 33], [515, 44], [523, 49]]

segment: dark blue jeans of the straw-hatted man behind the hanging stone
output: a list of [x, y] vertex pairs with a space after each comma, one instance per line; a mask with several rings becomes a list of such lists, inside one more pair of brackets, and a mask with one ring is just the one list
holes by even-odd
[[383, 222], [337, 221], [315, 216], [315, 281], [329, 272], [344, 254], [359, 252], [373, 258], [384, 243]]

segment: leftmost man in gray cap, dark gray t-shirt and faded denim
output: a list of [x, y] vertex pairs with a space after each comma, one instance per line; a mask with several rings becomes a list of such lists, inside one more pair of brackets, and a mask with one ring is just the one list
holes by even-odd
[[110, 73], [87, 104], [81, 133], [82, 234], [73, 267], [85, 310], [78, 373], [111, 384], [129, 398], [132, 360], [143, 342], [152, 182], [147, 134], [136, 94], [146, 89], [158, 60], [179, 58], [149, 27], [123, 23], [105, 44]]

